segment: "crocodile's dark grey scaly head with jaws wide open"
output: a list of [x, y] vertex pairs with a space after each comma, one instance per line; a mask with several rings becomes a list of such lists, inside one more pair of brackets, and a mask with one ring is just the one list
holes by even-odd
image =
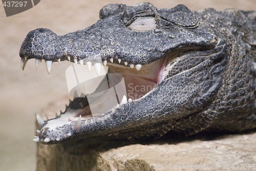
[[[94, 66], [97, 73], [101, 65], [123, 75], [127, 92], [152, 87], [138, 96], [128, 93], [112, 110], [94, 117], [87, 97], [74, 98], [56, 118], [37, 116], [42, 126], [34, 140], [54, 144], [159, 137], [170, 130], [170, 120], [202, 109], [218, 89], [223, 69], [222, 47], [203, 26], [204, 19], [183, 5], [115, 4], [102, 8], [98, 22], [81, 31], [61, 36], [44, 28], [29, 32], [19, 52], [22, 69], [28, 59], [35, 58], [36, 67], [44, 59], [50, 73], [52, 62], [69, 60]], [[198, 71], [204, 75], [193, 80]]]

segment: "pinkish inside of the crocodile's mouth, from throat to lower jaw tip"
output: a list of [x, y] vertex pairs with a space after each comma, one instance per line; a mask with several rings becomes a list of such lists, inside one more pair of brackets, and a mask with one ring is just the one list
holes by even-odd
[[[100, 109], [104, 105], [104, 102], [113, 102], [113, 96], [113, 98], [110, 98], [108, 94], [104, 94], [105, 96], [95, 98], [92, 103], [90, 103], [90, 94], [84, 97], [74, 97], [73, 102], [70, 102], [65, 113], [57, 118], [48, 120], [44, 127], [48, 127], [49, 130], [56, 130], [57, 127], [70, 124], [72, 121], [77, 121], [80, 116], [81, 120], [86, 120], [86, 122], [87, 119], [89, 119], [88, 122], [92, 122], [92, 118], [95, 117], [105, 119], [105, 113], [115, 110], [121, 105], [136, 102], [150, 94], [154, 88], [164, 80], [164, 77], [167, 75], [166, 67], [168, 67], [169, 63], [174, 59], [174, 57], [162, 57], [154, 62], [142, 65], [139, 71], [133, 67], [121, 65], [122, 63], [108, 62], [106, 65], [108, 67], [108, 74], [118, 73], [122, 75], [125, 82], [126, 96], [116, 96], [115, 99], [118, 99], [116, 103], [112, 103], [112, 105], [109, 106], [105, 105], [108, 106], [109, 109], [105, 112], [98, 113], [93, 112], [94, 108]], [[101, 67], [103, 66], [101, 65]], [[98, 87], [100, 87], [100, 84], [96, 89], [98, 89]]]

